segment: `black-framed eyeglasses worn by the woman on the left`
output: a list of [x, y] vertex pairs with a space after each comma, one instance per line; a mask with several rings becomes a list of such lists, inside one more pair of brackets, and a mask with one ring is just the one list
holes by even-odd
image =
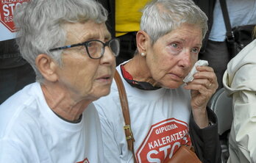
[[85, 46], [88, 56], [91, 59], [99, 59], [103, 56], [105, 51], [105, 46], [110, 47], [113, 55], [115, 57], [118, 56], [120, 51], [120, 43], [117, 38], [113, 38], [112, 40], [107, 41], [107, 43], [103, 43], [100, 40], [89, 40], [84, 43], [77, 43], [70, 46], [63, 46], [59, 48], [51, 48], [49, 51], [59, 51], [65, 48], [73, 48], [76, 46]]

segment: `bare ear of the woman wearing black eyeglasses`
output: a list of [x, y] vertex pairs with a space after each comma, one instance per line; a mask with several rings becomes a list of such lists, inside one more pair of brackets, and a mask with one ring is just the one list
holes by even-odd
[[54, 62], [47, 54], [39, 54], [35, 59], [35, 65], [37, 66], [43, 77], [49, 82], [56, 82], [57, 76], [57, 63]]

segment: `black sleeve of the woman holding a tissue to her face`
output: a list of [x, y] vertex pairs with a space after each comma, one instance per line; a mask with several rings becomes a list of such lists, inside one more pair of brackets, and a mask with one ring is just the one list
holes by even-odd
[[206, 128], [199, 128], [193, 120], [189, 123], [189, 133], [196, 155], [202, 162], [221, 162], [221, 145], [218, 138], [218, 121], [215, 113], [207, 108], [208, 119], [211, 125]]

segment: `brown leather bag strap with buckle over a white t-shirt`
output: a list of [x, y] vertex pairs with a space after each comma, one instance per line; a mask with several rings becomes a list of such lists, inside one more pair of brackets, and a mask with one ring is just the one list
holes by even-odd
[[118, 87], [121, 108], [124, 116], [124, 123], [125, 123], [124, 132], [127, 139], [128, 149], [129, 151], [132, 151], [133, 159], [134, 159], [134, 162], [136, 163], [135, 152], [133, 147], [133, 142], [135, 142], [135, 139], [132, 134], [131, 121], [129, 119], [129, 105], [127, 100], [127, 93], [125, 92], [124, 84], [117, 70], [115, 70], [114, 79]]

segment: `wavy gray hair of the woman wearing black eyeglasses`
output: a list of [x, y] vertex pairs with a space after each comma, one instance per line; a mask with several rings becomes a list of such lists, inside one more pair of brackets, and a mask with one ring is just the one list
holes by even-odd
[[89, 20], [107, 21], [107, 10], [94, 0], [30, 0], [15, 8], [16, 41], [22, 57], [35, 70], [38, 82], [43, 82], [35, 65], [38, 54], [48, 54], [61, 65], [62, 51], [50, 52], [49, 49], [64, 46], [64, 24]]

